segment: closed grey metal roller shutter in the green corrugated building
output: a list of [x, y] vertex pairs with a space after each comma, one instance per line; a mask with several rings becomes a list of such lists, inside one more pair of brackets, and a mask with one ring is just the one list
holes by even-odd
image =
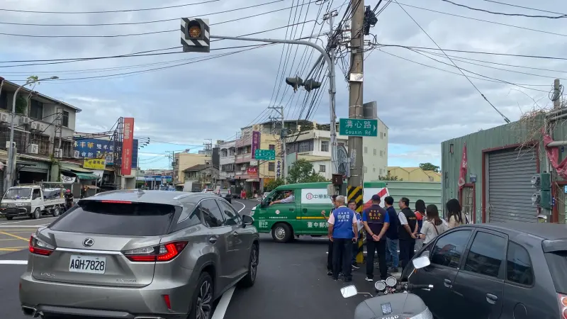
[[532, 206], [531, 179], [537, 174], [537, 154], [533, 151], [505, 150], [488, 154], [488, 221], [537, 223]]

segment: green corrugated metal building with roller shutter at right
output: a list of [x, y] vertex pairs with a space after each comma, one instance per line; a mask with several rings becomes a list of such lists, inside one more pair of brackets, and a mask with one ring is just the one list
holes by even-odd
[[[566, 110], [548, 114], [549, 121]], [[567, 112], [565, 112], [567, 114]], [[545, 114], [522, 118], [521, 121], [446, 140], [441, 144], [443, 201], [459, 198], [463, 210], [476, 223], [524, 221], [537, 222], [544, 216], [548, 222], [566, 223], [567, 181], [548, 167], [551, 161], [544, 151], [541, 130], [546, 127]], [[563, 146], [567, 125], [557, 121], [551, 140], [559, 164], [565, 158]], [[467, 172], [459, 189], [459, 172], [466, 144]], [[550, 169], [551, 168], [551, 169]], [[551, 211], [532, 202], [537, 189], [532, 177], [551, 172]]]

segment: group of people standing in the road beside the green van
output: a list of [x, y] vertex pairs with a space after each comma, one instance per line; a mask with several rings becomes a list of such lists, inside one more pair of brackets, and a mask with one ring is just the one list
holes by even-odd
[[[322, 211], [329, 224], [329, 250], [327, 255], [327, 274], [333, 279], [344, 276], [344, 281], [352, 281], [352, 269], [359, 269], [356, 255], [366, 233], [366, 281], [374, 281], [374, 257], [378, 255], [380, 278], [386, 279], [390, 274], [400, 271], [408, 265], [415, 250], [427, 245], [437, 235], [450, 228], [468, 223], [461, 205], [457, 199], [447, 202], [448, 221], [439, 216], [439, 210], [434, 204], [428, 206], [422, 200], [415, 202], [415, 211], [410, 208], [410, 199], [400, 198], [396, 211], [393, 207], [392, 196], [381, 198], [373, 195], [371, 206], [364, 209], [362, 214], [356, 211], [356, 201], [345, 205], [346, 198], [342, 195], [331, 197], [332, 209], [327, 216]], [[398, 254], [399, 249], [399, 254]]]

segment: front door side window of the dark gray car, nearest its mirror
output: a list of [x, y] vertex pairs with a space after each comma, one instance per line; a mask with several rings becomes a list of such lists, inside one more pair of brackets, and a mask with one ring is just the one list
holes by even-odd
[[471, 230], [457, 230], [439, 237], [430, 254], [432, 264], [459, 267], [468, 237], [471, 237]]

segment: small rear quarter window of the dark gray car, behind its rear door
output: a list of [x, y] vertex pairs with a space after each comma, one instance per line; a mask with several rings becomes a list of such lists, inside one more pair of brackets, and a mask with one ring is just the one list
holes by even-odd
[[[565, 272], [563, 268], [565, 265], [566, 264], [561, 264], [561, 273]], [[551, 267], [549, 267], [549, 269], [551, 272]], [[551, 277], [555, 279], [553, 276], [554, 272], [551, 272], [551, 275]], [[506, 280], [526, 286], [532, 286], [532, 284], [534, 284], [534, 268], [532, 267], [532, 260], [529, 259], [529, 253], [524, 247], [515, 242], [508, 242]]]

